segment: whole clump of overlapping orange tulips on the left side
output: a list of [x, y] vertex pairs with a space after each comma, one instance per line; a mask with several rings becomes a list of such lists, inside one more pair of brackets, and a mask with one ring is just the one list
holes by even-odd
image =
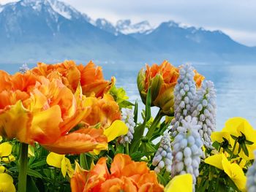
[[[112, 82], [92, 62], [38, 66], [25, 74], [0, 71], [0, 135], [55, 153], [106, 150], [104, 129], [121, 118], [107, 92]], [[73, 131], [83, 122], [86, 126]], [[91, 128], [101, 123], [102, 128]]]

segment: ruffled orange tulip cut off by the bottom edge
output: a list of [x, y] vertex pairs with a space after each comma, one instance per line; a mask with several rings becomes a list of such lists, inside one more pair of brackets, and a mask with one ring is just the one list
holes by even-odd
[[71, 179], [74, 192], [80, 191], [163, 191], [157, 182], [157, 174], [150, 171], [146, 162], [135, 162], [129, 155], [117, 154], [108, 172], [107, 158], [100, 158], [90, 171], [77, 164]]

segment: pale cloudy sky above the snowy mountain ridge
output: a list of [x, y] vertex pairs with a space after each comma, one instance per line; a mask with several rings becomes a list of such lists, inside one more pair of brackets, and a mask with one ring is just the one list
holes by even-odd
[[[0, 0], [5, 4], [13, 0]], [[248, 46], [256, 46], [255, 0], [63, 0], [92, 19], [112, 23], [148, 20], [152, 26], [174, 20], [187, 26], [221, 30]]]

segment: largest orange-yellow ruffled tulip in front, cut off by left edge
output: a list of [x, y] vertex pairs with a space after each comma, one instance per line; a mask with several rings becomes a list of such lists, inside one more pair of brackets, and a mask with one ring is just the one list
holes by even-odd
[[70, 132], [91, 110], [91, 102], [83, 96], [80, 86], [73, 94], [59, 79], [50, 81], [30, 72], [0, 75], [4, 77], [0, 85], [1, 136], [30, 145], [39, 142], [62, 154], [108, 148], [102, 129]]

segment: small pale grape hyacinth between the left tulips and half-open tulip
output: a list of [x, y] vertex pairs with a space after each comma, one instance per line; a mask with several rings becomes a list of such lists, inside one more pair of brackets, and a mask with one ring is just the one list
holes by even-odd
[[122, 109], [121, 120], [129, 128], [128, 133], [126, 135], [121, 136], [120, 143], [126, 145], [127, 143], [132, 142], [133, 134], [135, 133], [135, 122], [134, 122], [134, 114], [130, 109]]

